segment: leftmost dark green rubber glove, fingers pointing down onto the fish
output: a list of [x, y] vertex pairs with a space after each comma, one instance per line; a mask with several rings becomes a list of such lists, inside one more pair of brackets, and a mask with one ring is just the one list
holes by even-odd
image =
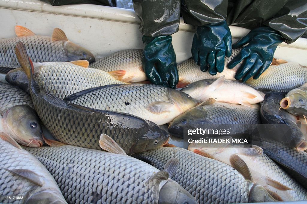
[[143, 36], [143, 69], [153, 84], [176, 88], [178, 70], [176, 55], [172, 45], [172, 36]]

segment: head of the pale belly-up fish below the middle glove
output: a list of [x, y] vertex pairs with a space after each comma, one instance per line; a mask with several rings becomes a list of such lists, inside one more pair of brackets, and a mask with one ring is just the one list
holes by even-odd
[[190, 95], [192, 98], [197, 100], [206, 100], [204, 98], [208, 94], [208, 87], [211, 85], [211, 81], [209, 80], [200, 80], [193, 83], [190, 83], [185, 88], [181, 89], [180, 91], [185, 92], [186, 94]]

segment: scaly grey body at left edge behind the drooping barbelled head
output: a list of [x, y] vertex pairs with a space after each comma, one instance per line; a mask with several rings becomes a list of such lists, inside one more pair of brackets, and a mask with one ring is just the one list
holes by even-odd
[[0, 87], [0, 114], [3, 115], [17, 105], [27, 105], [34, 109], [31, 97], [20, 88], [5, 82], [0, 82]]

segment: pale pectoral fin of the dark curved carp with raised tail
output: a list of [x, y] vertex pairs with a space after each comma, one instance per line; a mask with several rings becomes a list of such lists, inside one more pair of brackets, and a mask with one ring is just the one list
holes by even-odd
[[114, 154], [123, 154], [127, 155], [126, 152], [122, 149], [122, 147], [117, 144], [114, 139], [109, 137], [106, 134], [101, 134], [99, 138], [99, 147], [101, 147], [103, 150], [106, 150], [108, 152], [114, 153]]

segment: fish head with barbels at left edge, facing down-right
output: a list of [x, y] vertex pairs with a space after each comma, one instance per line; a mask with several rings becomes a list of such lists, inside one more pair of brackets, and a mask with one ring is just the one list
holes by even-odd
[[29, 147], [43, 145], [42, 128], [35, 111], [25, 105], [10, 108], [3, 117], [10, 135], [20, 144]]

